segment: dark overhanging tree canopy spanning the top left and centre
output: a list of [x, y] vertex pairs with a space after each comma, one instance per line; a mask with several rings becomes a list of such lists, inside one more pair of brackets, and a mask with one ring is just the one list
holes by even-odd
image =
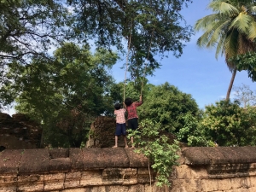
[[[160, 67], [159, 55], [182, 55], [191, 27], [180, 10], [191, 0], [3, 0], [0, 2], [0, 85], [7, 86], [10, 63], [26, 66], [36, 57], [46, 61], [50, 50], [73, 40], [93, 44], [96, 49], [117, 49], [125, 53], [131, 44], [131, 77]], [[149, 51], [149, 52], [148, 52]], [[157, 55], [157, 58], [156, 58]], [[43, 67], [44, 65], [42, 65]], [[10, 71], [9, 71], [10, 72]], [[6, 96], [5, 91], [0, 96]], [[7, 105], [13, 100], [1, 100]]]

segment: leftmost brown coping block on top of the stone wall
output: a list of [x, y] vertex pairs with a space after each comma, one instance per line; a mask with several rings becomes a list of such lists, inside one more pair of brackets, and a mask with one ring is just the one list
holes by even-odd
[[23, 150], [4, 150], [0, 152], [0, 174], [18, 172]]

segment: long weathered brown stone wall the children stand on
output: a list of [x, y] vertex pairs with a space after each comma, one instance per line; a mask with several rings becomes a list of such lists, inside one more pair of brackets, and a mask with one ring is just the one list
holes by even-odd
[[147, 158], [131, 148], [5, 149], [0, 192], [256, 191], [255, 147], [182, 148], [180, 156], [172, 187], [160, 189]]

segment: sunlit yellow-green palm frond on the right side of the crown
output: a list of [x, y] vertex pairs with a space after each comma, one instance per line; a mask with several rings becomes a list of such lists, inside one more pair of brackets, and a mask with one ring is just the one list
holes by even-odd
[[247, 15], [244, 12], [241, 12], [230, 24], [230, 29], [235, 27], [239, 32], [247, 33], [250, 23], [252, 22], [253, 17]]

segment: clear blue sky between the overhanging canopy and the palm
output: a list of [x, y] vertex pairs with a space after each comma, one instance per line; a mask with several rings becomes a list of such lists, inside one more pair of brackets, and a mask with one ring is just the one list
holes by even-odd
[[[190, 26], [212, 12], [207, 9], [209, 0], [195, 0], [189, 3], [189, 7], [183, 9], [182, 15]], [[200, 108], [214, 104], [225, 98], [231, 79], [229, 68], [224, 62], [224, 57], [215, 58], [215, 49], [199, 49], [196, 40], [201, 32], [195, 33], [186, 47], [183, 55], [175, 58], [169, 53], [169, 58], [162, 61], [160, 69], [156, 70], [154, 77], [148, 77], [151, 84], [164, 84], [168, 82], [177, 86], [184, 93], [191, 94]], [[123, 61], [122, 63], [124, 63]], [[119, 65], [113, 68], [113, 77], [123, 81], [125, 70], [119, 69]], [[246, 84], [250, 90], [256, 90], [256, 84], [248, 78], [247, 72], [237, 72], [234, 86]], [[231, 94], [232, 95], [232, 94]], [[232, 97], [232, 96], [230, 96]]]

